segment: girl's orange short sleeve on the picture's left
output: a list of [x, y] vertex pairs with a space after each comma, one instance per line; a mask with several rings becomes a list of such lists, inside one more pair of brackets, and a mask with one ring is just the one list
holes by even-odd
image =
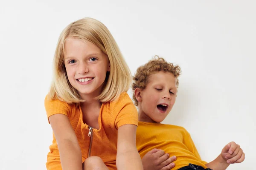
[[64, 114], [68, 116], [70, 110], [69, 105], [66, 102], [62, 102], [58, 99], [49, 99], [48, 95], [44, 99], [44, 107], [47, 113], [48, 122], [49, 116], [52, 116], [54, 114]]

